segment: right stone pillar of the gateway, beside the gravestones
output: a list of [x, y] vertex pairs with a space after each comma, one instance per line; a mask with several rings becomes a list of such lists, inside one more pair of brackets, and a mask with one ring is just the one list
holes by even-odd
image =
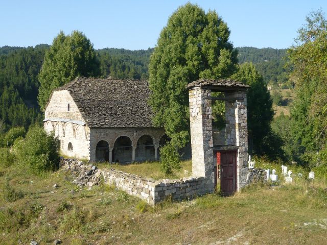
[[225, 92], [225, 95], [238, 99], [225, 102], [225, 109], [226, 144], [239, 146], [237, 156], [237, 188], [240, 190], [246, 184], [248, 171], [246, 91]]

